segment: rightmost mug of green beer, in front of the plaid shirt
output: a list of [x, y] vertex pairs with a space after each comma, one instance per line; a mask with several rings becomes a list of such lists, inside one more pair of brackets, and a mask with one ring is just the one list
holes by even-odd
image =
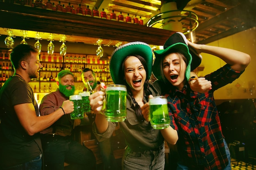
[[149, 99], [150, 124], [154, 129], [168, 128], [170, 117], [167, 99], [165, 96], [156, 96]]

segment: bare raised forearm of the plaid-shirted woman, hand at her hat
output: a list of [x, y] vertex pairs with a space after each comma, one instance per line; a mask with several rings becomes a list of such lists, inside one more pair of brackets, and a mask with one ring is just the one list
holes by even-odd
[[251, 61], [251, 57], [248, 54], [233, 49], [205, 44], [194, 44], [189, 41], [188, 44], [193, 47], [198, 54], [208, 53], [219, 57], [229, 64], [234, 71], [243, 71]]

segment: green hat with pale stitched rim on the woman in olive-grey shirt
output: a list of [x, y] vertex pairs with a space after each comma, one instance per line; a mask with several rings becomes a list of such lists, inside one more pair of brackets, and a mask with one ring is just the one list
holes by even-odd
[[117, 47], [110, 58], [110, 76], [115, 84], [124, 84], [122, 65], [129, 55], [140, 55], [146, 60], [148, 67], [148, 79], [151, 77], [153, 52], [151, 47], [144, 42], [130, 42]]

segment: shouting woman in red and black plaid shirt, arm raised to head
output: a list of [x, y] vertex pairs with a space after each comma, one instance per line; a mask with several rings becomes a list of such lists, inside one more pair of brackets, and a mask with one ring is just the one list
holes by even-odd
[[[186, 44], [197, 54], [209, 53], [227, 63], [209, 75], [192, 80], [193, 84], [211, 81], [212, 87], [206, 93], [195, 93], [188, 86], [193, 57]], [[248, 66], [250, 56], [189, 41], [185, 44], [174, 41], [168, 45], [164, 50], [154, 51], [153, 74], [158, 79], [156, 84], [164, 84], [162, 89], [168, 99], [171, 127], [178, 132], [177, 170], [231, 170], [230, 153], [222, 135], [213, 92], [237, 79]], [[142, 110], [147, 119], [147, 112]]]

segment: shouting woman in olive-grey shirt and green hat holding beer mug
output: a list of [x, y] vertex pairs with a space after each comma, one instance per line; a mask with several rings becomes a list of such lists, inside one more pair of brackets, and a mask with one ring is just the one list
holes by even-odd
[[[141, 114], [141, 106], [148, 102], [149, 95], [160, 95], [149, 81], [152, 63], [153, 52], [143, 42], [119, 46], [110, 59], [113, 82], [127, 87], [127, 117], [119, 122], [127, 144], [122, 159], [122, 169], [125, 170], [164, 170], [164, 137], [168, 137], [166, 141], [170, 144], [175, 144], [178, 139], [177, 131], [171, 126], [155, 130]], [[90, 96], [94, 113], [101, 111], [104, 95], [104, 92], [98, 91]], [[108, 122], [105, 115], [97, 114], [93, 128], [95, 136], [101, 141], [112, 135], [115, 123]]]

